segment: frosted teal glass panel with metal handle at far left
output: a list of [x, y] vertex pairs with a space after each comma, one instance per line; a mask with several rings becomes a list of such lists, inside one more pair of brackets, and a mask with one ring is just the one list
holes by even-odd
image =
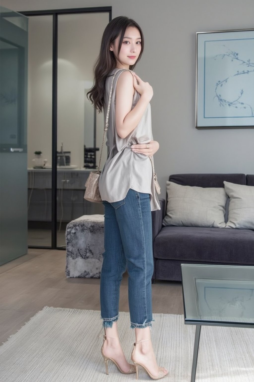
[[27, 253], [28, 18], [0, 6], [0, 264]]

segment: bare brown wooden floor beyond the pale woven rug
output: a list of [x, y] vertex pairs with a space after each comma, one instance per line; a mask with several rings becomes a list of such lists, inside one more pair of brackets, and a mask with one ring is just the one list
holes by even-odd
[[[0, 267], [0, 344], [44, 306], [100, 311], [99, 278], [67, 278], [66, 252], [29, 249]], [[153, 313], [183, 314], [181, 282], [152, 284]], [[128, 274], [120, 287], [119, 312], [129, 311]]]

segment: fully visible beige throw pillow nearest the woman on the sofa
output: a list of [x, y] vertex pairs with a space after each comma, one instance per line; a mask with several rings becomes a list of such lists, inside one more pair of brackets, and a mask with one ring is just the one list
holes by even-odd
[[219, 187], [182, 186], [166, 181], [168, 203], [162, 225], [224, 228], [227, 194]]

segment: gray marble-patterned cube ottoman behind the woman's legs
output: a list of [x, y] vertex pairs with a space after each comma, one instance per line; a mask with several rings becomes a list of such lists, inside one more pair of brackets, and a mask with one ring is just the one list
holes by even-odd
[[83, 215], [66, 226], [66, 277], [100, 278], [104, 215]]

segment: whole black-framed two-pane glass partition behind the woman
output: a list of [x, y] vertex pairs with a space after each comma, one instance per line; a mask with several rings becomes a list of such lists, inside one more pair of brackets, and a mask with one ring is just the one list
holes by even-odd
[[[28, 237], [30, 248], [65, 249], [68, 222], [104, 214], [83, 196], [97, 168], [104, 115], [86, 93], [93, 86], [112, 7], [24, 11], [29, 18]], [[107, 146], [101, 168], [107, 159]]]

